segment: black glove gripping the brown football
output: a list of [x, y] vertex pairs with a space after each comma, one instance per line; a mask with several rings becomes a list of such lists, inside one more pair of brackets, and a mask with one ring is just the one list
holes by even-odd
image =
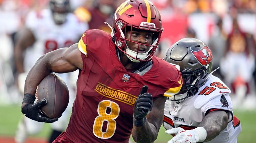
[[[46, 105], [46, 99], [41, 99], [37, 103], [34, 104], [36, 97], [31, 94], [25, 94], [23, 98], [23, 104], [26, 104], [21, 108], [21, 112], [28, 118], [38, 121], [38, 122], [46, 122], [52, 123], [58, 120], [58, 118], [50, 119], [45, 117], [43, 113], [40, 111], [40, 107]], [[28, 103], [28, 104], [27, 104]]]

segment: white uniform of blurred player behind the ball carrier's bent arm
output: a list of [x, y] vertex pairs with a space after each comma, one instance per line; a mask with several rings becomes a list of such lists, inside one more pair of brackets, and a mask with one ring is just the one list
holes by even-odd
[[[25, 27], [28, 28], [35, 37], [35, 43], [32, 47], [26, 48], [24, 57], [25, 73], [19, 77], [19, 87], [24, 90], [25, 78], [29, 70], [34, 66], [35, 62], [45, 53], [53, 50], [69, 47], [77, 43], [88, 29], [88, 24], [80, 22], [72, 13], [67, 14], [67, 21], [61, 25], [54, 23], [50, 9], [42, 11], [31, 11], [25, 22]], [[67, 120], [69, 112], [75, 97], [74, 86], [76, 86], [76, 79], [78, 71], [59, 75], [67, 84], [70, 94], [70, 101], [67, 109], [64, 111], [58, 121], [51, 123], [54, 130], [63, 131], [67, 127]], [[56, 73], [55, 73], [56, 74]], [[23, 87], [22, 87], [23, 86]], [[24, 143], [27, 134], [36, 134], [43, 127], [43, 123], [31, 120], [24, 116], [24, 121], [20, 121], [18, 130], [16, 131], [16, 143]]]

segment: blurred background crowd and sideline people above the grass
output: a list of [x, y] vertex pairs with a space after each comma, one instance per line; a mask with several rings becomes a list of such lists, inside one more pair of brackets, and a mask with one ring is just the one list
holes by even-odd
[[[254, 108], [256, 0], [151, 0], [162, 15], [164, 32], [156, 55], [178, 39], [196, 37], [213, 52], [213, 74], [232, 91], [234, 107]], [[113, 13], [123, 0], [70, 0], [71, 12], [89, 29], [110, 33]], [[49, 0], [0, 0], [0, 103], [20, 104], [20, 71], [14, 45], [30, 11], [49, 7]], [[78, 39], [79, 40], [79, 39]], [[242, 105], [242, 106], [241, 106]]]

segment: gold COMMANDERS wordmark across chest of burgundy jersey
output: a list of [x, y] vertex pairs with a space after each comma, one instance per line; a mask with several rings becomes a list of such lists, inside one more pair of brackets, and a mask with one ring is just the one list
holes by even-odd
[[94, 90], [104, 97], [108, 97], [131, 106], [135, 104], [135, 101], [137, 99], [137, 97], [134, 95], [131, 95], [129, 93], [126, 93], [117, 89], [113, 89], [99, 82]]

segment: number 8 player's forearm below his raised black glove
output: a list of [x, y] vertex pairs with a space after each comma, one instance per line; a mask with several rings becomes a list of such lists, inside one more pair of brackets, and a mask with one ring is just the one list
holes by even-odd
[[137, 143], [153, 143], [157, 138], [158, 130], [156, 126], [147, 121], [139, 127], [133, 125], [132, 137]]

